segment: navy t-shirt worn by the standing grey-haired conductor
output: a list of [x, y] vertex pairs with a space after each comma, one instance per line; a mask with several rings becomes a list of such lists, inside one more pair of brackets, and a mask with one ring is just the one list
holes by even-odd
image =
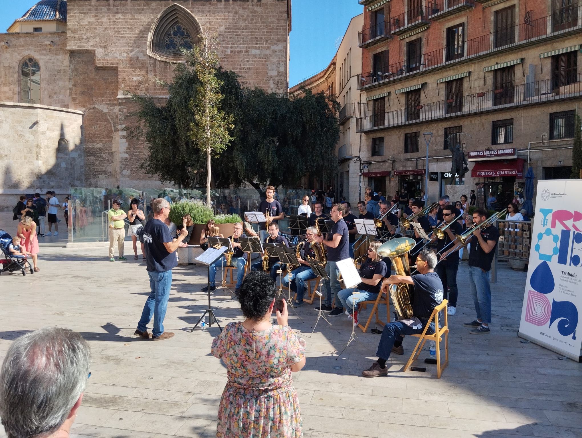
[[168, 226], [159, 219], [151, 219], [145, 223], [144, 252], [147, 270], [150, 272], [165, 272], [178, 266], [176, 251], [168, 252], [164, 245], [171, 242], [170, 230]]

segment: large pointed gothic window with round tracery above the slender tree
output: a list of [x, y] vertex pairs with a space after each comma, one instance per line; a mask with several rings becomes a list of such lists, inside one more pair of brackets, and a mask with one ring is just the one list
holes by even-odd
[[174, 4], [162, 12], [148, 35], [148, 55], [167, 62], [184, 60], [182, 49], [190, 50], [200, 41], [200, 24], [189, 10]]

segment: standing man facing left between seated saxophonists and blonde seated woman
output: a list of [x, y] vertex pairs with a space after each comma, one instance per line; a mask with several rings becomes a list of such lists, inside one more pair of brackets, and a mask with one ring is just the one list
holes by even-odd
[[[336, 262], [350, 258], [349, 248], [349, 231], [346, 222], [343, 220], [343, 213], [345, 208], [342, 204], [333, 204], [331, 209], [331, 219], [335, 224], [330, 233], [327, 233], [327, 239], [323, 236], [316, 236], [315, 240], [327, 248], [327, 263], [325, 264], [325, 272], [329, 276], [329, 280], [324, 280], [325, 284], [325, 298], [321, 305], [321, 310], [324, 312], [331, 312], [329, 316], [337, 316], [343, 313], [342, 302], [339, 300], [338, 293], [341, 289], [338, 281], [338, 266]], [[335, 294], [334, 309], [331, 308], [331, 293]], [[339, 307], [338, 307], [339, 306]], [[316, 312], [320, 311], [319, 307], [315, 307]]]

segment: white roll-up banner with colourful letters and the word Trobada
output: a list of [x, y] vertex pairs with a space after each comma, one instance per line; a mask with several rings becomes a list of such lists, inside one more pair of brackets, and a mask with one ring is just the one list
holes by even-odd
[[538, 181], [519, 336], [577, 362], [582, 332], [582, 180]]

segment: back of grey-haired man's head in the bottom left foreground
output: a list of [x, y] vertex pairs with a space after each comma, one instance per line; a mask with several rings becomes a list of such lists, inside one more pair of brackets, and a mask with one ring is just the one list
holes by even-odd
[[80, 333], [45, 327], [16, 339], [0, 374], [0, 418], [8, 438], [67, 431], [81, 405], [91, 351]]

